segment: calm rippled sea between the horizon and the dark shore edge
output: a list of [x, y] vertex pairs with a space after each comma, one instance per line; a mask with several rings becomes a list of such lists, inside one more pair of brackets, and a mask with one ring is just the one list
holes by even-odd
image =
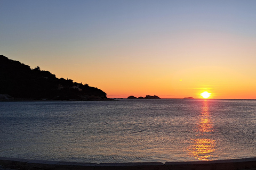
[[256, 156], [256, 100], [0, 103], [0, 156], [174, 162]]

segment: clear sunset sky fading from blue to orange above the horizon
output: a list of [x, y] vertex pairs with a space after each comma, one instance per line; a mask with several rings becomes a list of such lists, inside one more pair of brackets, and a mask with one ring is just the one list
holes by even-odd
[[0, 54], [109, 98], [256, 99], [255, 6], [0, 0]]

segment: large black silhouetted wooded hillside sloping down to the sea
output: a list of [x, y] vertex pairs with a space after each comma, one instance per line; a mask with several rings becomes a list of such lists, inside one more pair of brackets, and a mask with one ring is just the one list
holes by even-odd
[[15, 99], [105, 100], [106, 93], [88, 84], [56, 78], [40, 70], [0, 55], [0, 94]]

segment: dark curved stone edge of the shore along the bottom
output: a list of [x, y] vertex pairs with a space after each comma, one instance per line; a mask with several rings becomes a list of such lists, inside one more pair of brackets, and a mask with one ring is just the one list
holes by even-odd
[[90, 169], [90, 170], [235, 170], [235, 169], [256, 169], [255, 158], [226, 159], [226, 160], [206, 160], [195, 162], [144, 162], [144, 163], [76, 163], [58, 162], [47, 160], [31, 160], [18, 158], [0, 157], [0, 165], [9, 169], [25, 170], [70, 170], [70, 169]]

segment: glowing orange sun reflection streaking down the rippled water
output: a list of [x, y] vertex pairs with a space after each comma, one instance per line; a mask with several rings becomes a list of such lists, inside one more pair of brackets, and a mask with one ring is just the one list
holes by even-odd
[[191, 143], [187, 148], [187, 151], [190, 156], [193, 156], [198, 160], [207, 160], [212, 157], [216, 147], [216, 141], [210, 139], [210, 133], [213, 132], [213, 125], [209, 115], [207, 100], [203, 103], [200, 121], [198, 122], [195, 131], [197, 132], [197, 138], [190, 140]]

